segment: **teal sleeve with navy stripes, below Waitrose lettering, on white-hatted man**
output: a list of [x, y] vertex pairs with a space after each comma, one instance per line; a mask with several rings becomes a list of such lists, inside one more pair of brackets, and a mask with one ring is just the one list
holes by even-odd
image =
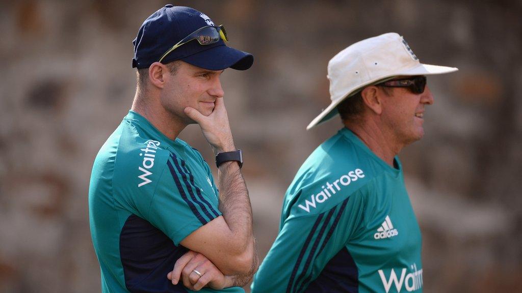
[[302, 292], [357, 230], [363, 197], [351, 194], [330, 210], [283, 223], [252, 283], [252, 293]]

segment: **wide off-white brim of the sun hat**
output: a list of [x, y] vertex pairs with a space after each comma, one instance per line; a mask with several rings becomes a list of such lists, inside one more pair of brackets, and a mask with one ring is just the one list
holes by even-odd
[[321, 112], [317, 117], [315, 117], [312, 122], [306, 126], [306, 130], [310, 130], [312, 127], [317, 126], [323, 122], [326, 122], [330, 120], [331, 118], [334, 118], [337, 114], [337, 105], [339, 105], [342, 101], [344, 101], [348, 96], [351, 94], [356, 93], [360, 89], [369, 86], [370, 84], [385, 81], [386, 79], [393, 78], [396, 76], [416, 76], [416, 75], [436, 75], [436, 74], [447, 74], [450, 72], [457, 71], [458, 68], [456, 67], [447, 67], [447, 66], [439, 66], [439, 65], [430, 65], [430, 64], [419, 64], [419, 66], [406, 69], [404, 71], [398, 71], [396, 74], [393, 75], [385, 75], [381, 77], [374, 78], [370, 81], [367, 81], [357, 88], [353, 88], [348, 90], [348, 92], [341, 97], [340, 99], [337, 99], [336, 101], [332, 101], [331, 104]]

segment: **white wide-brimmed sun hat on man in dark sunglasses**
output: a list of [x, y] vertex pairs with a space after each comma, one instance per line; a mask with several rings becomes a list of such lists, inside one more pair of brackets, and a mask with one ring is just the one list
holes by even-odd
[[458, 68], [421, 64], [397, 33], [374, 36], [350, 45], [328, 63], [331, 104], [306, 127], [310, 129], [338, 114], [337, 105], [364, 87], [395, 76], [446, 74]]

